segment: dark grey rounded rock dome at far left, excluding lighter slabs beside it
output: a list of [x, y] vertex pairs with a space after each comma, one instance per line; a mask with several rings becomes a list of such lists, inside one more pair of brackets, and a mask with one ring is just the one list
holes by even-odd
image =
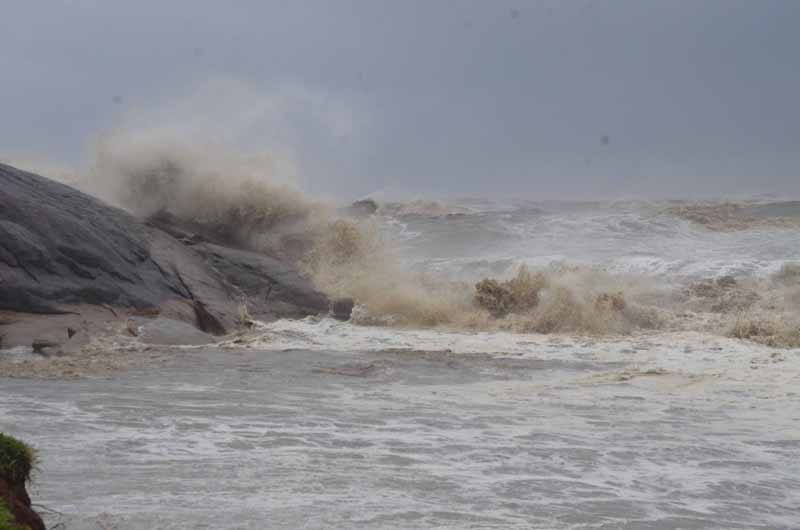
[[124, 211], [0, 164], [0, 309], [147, 307], [185, 296], [149, 248], [149, 229]]

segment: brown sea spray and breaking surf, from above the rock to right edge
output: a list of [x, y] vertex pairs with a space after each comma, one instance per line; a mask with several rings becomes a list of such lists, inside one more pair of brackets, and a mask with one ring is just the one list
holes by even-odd
[[[347, 217], [292, 185], [284, 167], [267, 154], [218, 144], [117, 133], [97, 143], [90, 170], [76, 182], [136, 215], [169, 215], [212, 240], [294, 263], [329, 295], [355, 299], [354, 324], [588, 335], [700, 330], [800, 345], [797, 265], [766, 278], [688, 282], [565, 261], [472, 281], [414, 272], [386, 237], [386, 221], [460, 223], [469, 209], [416, 200]], [[671, 213], [708, 214], [707, 206], [682, 208]], [[744, 206], [720, 208], [728, 219]]]

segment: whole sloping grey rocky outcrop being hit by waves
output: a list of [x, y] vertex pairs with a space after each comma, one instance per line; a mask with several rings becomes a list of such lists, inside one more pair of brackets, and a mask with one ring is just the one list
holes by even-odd
[[[169, 228], [0, 164], [2, 347], [39, 340], [42, 351], [54, 348], [51, 337], [25, 336], [14, 324], [33, 326], [29, 314], [70, 316], [61, 320], [74, 331], [92, 328], [98, 311], [119, 319], [149, 311], [222, 335], [243, 305], [257, 318], [328, 311], [327, 297], [286, 263]], [[58, 340], [73, 334], [60, 329]]]

